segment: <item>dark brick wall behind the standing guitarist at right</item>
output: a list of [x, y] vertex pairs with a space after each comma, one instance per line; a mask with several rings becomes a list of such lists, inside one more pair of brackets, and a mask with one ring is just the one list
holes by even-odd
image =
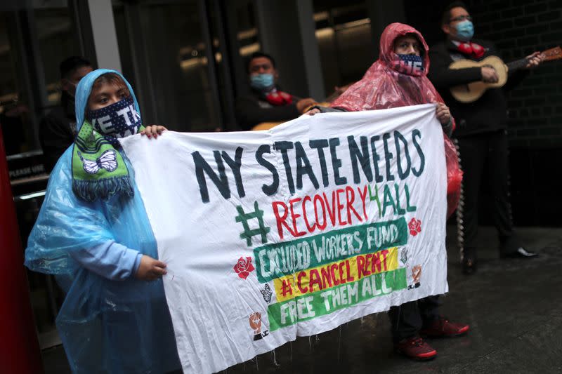
[[[404, 0], [407, 22], [431, 46], [443, 39], [440, 9], [449, 0]], [[475, 36], [497, 44], [506, 62], [562, 45], [562, 0], [466, 0]], [[516, 225], [560, 226], [562, 60], [546, 62], [509, 93], [511, 205]], [[480, 222], [492, 224], [483, 183]]]

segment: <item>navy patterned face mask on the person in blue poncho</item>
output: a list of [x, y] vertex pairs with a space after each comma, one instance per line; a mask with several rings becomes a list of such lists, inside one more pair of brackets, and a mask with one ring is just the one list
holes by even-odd
[[134, 135], [141, 127], [141, 115], [136, 111], [131, 97], [101, 109], [88, 109], [86, 118], [113, 145], [119, 145], [117, 138]]

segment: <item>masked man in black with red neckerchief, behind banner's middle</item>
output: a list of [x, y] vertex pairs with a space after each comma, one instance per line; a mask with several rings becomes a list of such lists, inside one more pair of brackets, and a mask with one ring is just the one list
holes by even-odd
[[297, 98], [277, 86], [275, 60], [266, 53], [253, 53], [247, 64], [251, 93], [236, 100], [236, 119], [242, 130], [261, 122], [289, 121], [315, 104], [311, 98]]

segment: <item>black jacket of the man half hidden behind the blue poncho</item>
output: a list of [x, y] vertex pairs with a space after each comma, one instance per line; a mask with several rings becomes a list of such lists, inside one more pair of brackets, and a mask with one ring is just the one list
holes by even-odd
[[63, 91], [60, 106], [41, 119], [39, 125], [39, 142], [43, 149], [43, 164], [47, 173], [51, 173], [60, 156], [74, 142], [76, 133], [74, 100]]

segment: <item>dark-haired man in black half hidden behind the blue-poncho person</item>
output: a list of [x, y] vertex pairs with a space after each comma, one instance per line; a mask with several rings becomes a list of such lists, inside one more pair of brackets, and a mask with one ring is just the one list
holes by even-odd
[[39, 142], [44, 155], [44, 166], [51, 173], [59, 157], [74, 142], [76, 136], [76, 115], [74, 114], [74, 93], [83, 76], [93, 70], [85, 58], [72, 56], [60, 62], [60, 105], [53, 108], [39, 126]]

